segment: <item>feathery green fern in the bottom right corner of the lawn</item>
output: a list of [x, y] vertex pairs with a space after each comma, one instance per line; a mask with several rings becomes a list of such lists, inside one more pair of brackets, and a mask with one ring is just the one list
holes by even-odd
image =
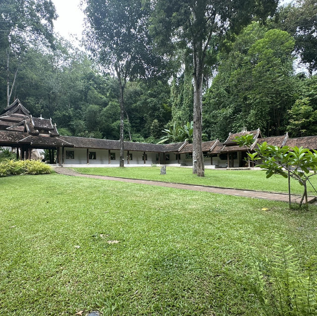
[[251, 264], [251, 280], [255, 294], [257, 315], [313, 316], [317, 315], [316, 256], [312, 256], [302, 272], [294, 249], [276, 243], [276, 255], [270, 262]]

